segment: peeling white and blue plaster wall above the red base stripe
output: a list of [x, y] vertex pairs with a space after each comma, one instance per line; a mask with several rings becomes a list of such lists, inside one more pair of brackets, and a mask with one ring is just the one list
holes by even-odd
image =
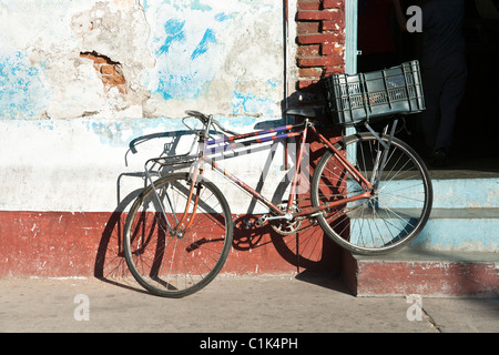
[[[240, 132], [279, 124], [282, 7], [275, 0], [2, 0], [0, 211], [114, 211], [143, 187], [138, 172], [147, 159], [191, 146], [192, 135], [175, 138], [185, 130], [176, 120], [184, 110], [213, 113]], [[130, 153], [131, 140], [162, 131], [172, 138]], [[224, 163], [252, 183], [268, 156], [263, 150]], [[265, 186], [281, 181], [283, 160], [279, 146], [267, 161]], [[251, 199], [232, 196], [224, 179], [217, 183], [234, 213], [247, 211]]]

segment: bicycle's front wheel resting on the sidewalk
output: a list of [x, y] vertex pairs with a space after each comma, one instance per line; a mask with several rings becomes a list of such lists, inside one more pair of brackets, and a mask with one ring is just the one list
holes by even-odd
[[195, 183], [187, 206], [191, 184], [187, 173], [159, 179], [155, 190], [146, 187], [126, 217], [126, 264], [139, 284], [159, 296], [183, 297], [203, 288], [218, 274], [231, 248], [233, 222], [225, 197], [203, 179]]

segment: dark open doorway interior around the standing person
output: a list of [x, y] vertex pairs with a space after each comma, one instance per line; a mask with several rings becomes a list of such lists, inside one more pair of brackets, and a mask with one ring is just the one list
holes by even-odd
[[[376, 12], [385, 13], [388, 9], [388, 22], [378, 23], [389, 31], [395, 52], [389, 57], [358, 57], [358, 71], [369, 71], [398, 64], [404, 61], [421, 59], [422, 33], [408, 33], [399, 29], [399, 23], [390, 0], [358, 0], [358, 43], [363, 50], [363, 36], [369, 34], [369, 23], [363, 17], [368, 2], [377, 3]], [[410, 6], [424, 6], [426, 1], [399, 0], [403, 13]], [[465, 37], [468, 80], [466, 93], [460, 102], [451, 152], [446, 170], [473, 170], [485, 173], [499, 173], [499, 0], [465, 1]], [[387, 8], [388, 7], [388, 8]], [[379, 22], [381, 18], [377, 18]], [[371, 26], [371, 24], [370, 24]], [[371, 40], [371, 39], [369, 39]], [[377, 39], [389, 48], [389, 39]], [[380, 67], [380, 63], [386, 63]], [[421, 142], [421, 115], [410, 116], [404, 140], [417, 149], [421, 156], [428, 159], [427, 149]], [[404, 134], [404, 133], [403, 133]]]

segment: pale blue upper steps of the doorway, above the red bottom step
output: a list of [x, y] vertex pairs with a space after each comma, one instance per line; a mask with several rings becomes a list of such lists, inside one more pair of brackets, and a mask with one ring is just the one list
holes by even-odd
[[[459, 175], [459, 174], [458, 174]], [[499, 178], [432, 180], [434, 203], [430, 219], [413, 246], [420, 250], [495, 252], [499, 251]], [[384, 182], [381, 182], [383, 186]], [[390, 181], [390, 191], [420, 193], [414, 181]], [[410, 217], [419, 213], [418, 199], [398, 199], [396, 194], [380, 195], [374, 216], [401, 215]], [[386, 213], [385, 213], [386, 212]], [[366, 214], [365, 210], [363, 213]], [[399, 222], [369, 220], [376, 235], [365, 235], [365, 223], [352, 223], [352, 236], [363, 235], [376, 240], [379, 234], [394, 235]], [[358, 230], [358, 226], [363, 230]]]

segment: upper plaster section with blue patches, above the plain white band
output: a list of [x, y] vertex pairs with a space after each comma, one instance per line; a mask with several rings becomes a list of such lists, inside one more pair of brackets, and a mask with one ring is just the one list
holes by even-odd
[[[0, 19], [1, 119], [281, 115], [273, 0], [6, 0]], [[106, 83], [82, 53], [108, 58], [125, 82]]]

